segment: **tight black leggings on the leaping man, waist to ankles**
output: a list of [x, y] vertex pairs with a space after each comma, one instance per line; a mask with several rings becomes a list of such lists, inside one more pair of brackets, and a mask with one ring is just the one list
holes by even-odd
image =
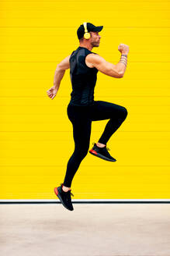
[[71, 187], [71, 182], [82, 159], [88, 153], [92, 121], [109, 119], [99, 143], [106, 144], [113, 133], [127, 117], [127, 108], [106, 101], [94, 101], [92, 106], [76, 106], [68, 104], [68, 118], [73, 125], [75, 151], [68, 161], [64, 178], [64, 186]]

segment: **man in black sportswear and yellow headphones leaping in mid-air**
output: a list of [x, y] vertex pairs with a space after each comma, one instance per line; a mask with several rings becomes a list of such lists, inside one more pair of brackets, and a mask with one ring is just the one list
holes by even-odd
[[93, 47], [99, 47], [99, 32], [103, 26], [95, 27], [92, 23], [83, 23], [78, 27], [78, 48], [63, 59], [54, 74], [54, 86], [47, 91], [48, 97], [54, 99], [60, 87], [65, 70], [70, 69], [71, 101], [68, 104], [68, 119], [73, 126], [75, 151], [68, 161], [64, 183], [55, 187], [54, 192], [65, 208], [74, 210], [71, 203], [71, 182], [83, 158], [88, 154], [92, 121], [109, 119], [98, 142], [93, 143], [89, 153], [106, 161], [115, 162], [116, 159], [109, 155], [106, 143], [121, 126], [127, 117], [127, 108], [106, 101], [94, 100], [94, 88], [98, 71], [116, 78], [122, 78], [127, 68], [127, 54], [129, 46], [120, 44], [120, 62], [116, 65], [107, 62], [100, 55], [91, 52]]

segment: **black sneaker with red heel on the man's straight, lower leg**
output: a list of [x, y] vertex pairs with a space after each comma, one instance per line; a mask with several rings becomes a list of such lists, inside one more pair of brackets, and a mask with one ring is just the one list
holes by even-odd
[[62, 187], [63, 187], [63, 183], [61, 183], [60, 187], [55, 187], [54, 193], [60, 199], [61, 204], [63, 204], [65, 208], [67, 208], [70, 211], [73, 211], [74, 208], [71, 203], [71, 195], [74, 197], [74, 194], [71, 193], [71, 190], [68, 190], [68, 192], [64, 192], [64, 190], [62, 190]]

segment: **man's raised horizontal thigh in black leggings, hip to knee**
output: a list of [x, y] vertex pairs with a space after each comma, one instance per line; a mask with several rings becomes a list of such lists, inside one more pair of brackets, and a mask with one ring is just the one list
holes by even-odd
[[107, 101], [95, 101], [90, 111], [92, 121], [118, 118], [124, 107]]

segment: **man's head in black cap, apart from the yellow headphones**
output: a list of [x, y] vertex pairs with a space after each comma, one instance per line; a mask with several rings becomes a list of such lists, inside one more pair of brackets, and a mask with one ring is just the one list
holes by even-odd
[[85, 26], [82, 24], [78, 27], [77, 35], [81, 44], [91, 44], [92, 47], [99, 47], [100, 35], [99, 32], [102, 30], [103, 26], [95, 27], [92, 23], [86, 23], [88, 33], [90, 33], [90, 38], [85, 39]]

